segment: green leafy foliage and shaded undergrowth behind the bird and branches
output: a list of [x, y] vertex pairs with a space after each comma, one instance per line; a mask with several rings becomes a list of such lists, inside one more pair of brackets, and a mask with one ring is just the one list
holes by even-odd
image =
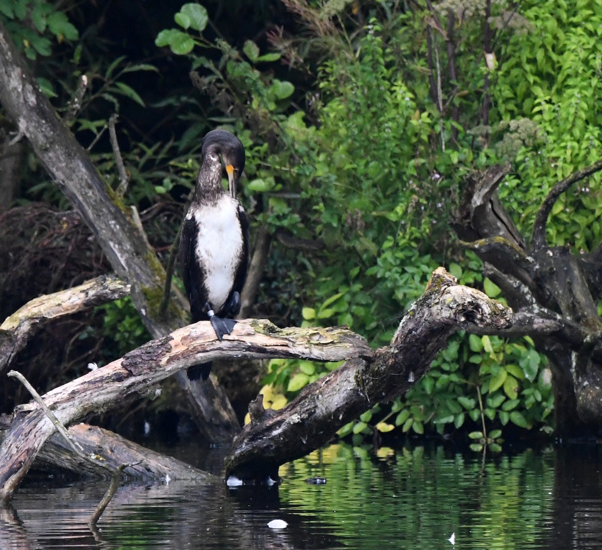
[[[222, 125], [241, 138], [242, 200], [253, 234], [262, 227], [273, 238], [253, 315], [278, 324], [347, 324], [382, 345], [441, 264], [503, 299], [448, 226], [465, 176], [511, 162], [500, 196], [527, 233], [551, 186], [600, 152], [598, 0], [553, 7], [506, 0], [67, 1], [60, 11], [43, 0], [0, 0], [0, 14], [113, 188], [119, 181], [106, 129], [119, 114], [130, 178], [124, 200], [141, 210], [163, 260], [196, 176], [202, 135]], [[66, 208], [33, 154], [23, 149], [19, 159], [14, 198], [23, 216], [43, 210], [40, 201]], [[551, 242], [589, 250], [599, 241], [599, 182], [592, 177], [556, 203]], [[16, 218], [1, 219], [14, 233]], [[14, 250], [0, 245], [5, 315], [52, 286], [44, 277], [35, 286], [19, 282], [42, 266], [36, 254], [19, 252], [37, 242], [35, 227], [19, 233]], [[58, 255], [57, 229], [44, 231], [42, 242], [50, 244], [38, 255], [58, 286], [106, 269], [92, 244], [77, 246], [81, 228], [63, 229], [61, 242], [69, 244]], [[72, 262], [61, 264], [63, 254]], [[17, 255], [22, 262], [6, 260]], [[81, 365], [106, 362], [146, 336], [123, 302], [82, 322], [67, 338], [81, 349], [69, 360], [44, 360], [40, 380], [54, 385], [52, 365], [73, 357]], [[499, 428], [508, 425], [549, 433], [550, 373], [532, 344], [460, 334], [408, 395], [341, 434], [462, 429], [480, 440], [475, 448], [485, 441], [495, 450]], [[23, 357], [20, 368], [41, 358]], [[282, 406], [334, 366], [271, 362], [267, 400]], [[8, 396], [4, 403], [10, 410]]]

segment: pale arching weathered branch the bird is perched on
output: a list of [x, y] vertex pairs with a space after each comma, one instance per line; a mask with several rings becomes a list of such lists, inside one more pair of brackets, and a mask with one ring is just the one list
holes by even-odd
[[[96, 371], [55, 388], [42, 398], [66, 426], [92, 412], [108, 410], [132, 392], [154, 392], [157, 384], [199, 362], [222, 358], [303, 357], [340, 361], [371, 357], [365, 340], [349, 329], [278, 329], [267, 320], [239, 321], [231, 335], [216, 341], [201, 321], [144, 344]], [[35, 403], [17, 407], [0, 445], [0, 501], [6, 502], [28, 471], [54, 425]]]

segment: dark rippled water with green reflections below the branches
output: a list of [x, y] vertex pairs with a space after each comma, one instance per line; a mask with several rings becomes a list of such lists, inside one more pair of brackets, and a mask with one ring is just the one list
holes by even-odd
[[[104, 484], [29, 483], [0, 511], [0, 549], [602, 548], [600, 460], [597, 448], [483, 462], [441, 447], [334, 445], [282, 467], [270, 489], [122, 487], [96, 530], [87, 521]], [[288, 526], [270, 529], [273, 519]]]

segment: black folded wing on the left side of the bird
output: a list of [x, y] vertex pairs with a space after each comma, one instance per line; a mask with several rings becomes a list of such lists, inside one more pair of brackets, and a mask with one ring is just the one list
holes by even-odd
[[192, 322], [207, 320], [205, 304], [207, 302], [205, 291], [205, 273], [196, 261], [194, 249], [196, 247], [197, 226], [194, 218], [184, 221], [182, 236], [180, 238], [180, 265], [182, 267], [182, 280], [188, 301]]

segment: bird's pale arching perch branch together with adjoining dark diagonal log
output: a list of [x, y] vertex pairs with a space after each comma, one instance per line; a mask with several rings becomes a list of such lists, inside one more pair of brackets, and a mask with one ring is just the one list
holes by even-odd
[[[110, 408], [132, 392], [154, 392], [158, 382], [188, 366], [220, 357], [347, 360], [306, 388], [276, 413], [277, 417], [255, 418], [235, 441], [226, 465], [228, 473], [264, 478], [264, 474], [273, 474], [276, 463], [322, 445], [371, 404], [405, 392], [426, 372], [455, 330], [479, 326], [494, 331], [509, 326], [510, 318], [511, 312], [500, 303], [456, 285], [455, 279], [439, 268], [424, 296], [403, 318], [391, 346], [380, 350], [372, 350], [345, 327], [279, 329], [265, 320], [240, 321], [232, 335], [219, 342], [211, 324], [202, 321], [148, 342], [42, 397], [68, 426], [90, 412]], [[0, 445], [0, 501], [11, 498], [53, 433], [54, 425], [37, 404], [19, 407]], [[302, 445], [289, 450], [295, 438]]]

